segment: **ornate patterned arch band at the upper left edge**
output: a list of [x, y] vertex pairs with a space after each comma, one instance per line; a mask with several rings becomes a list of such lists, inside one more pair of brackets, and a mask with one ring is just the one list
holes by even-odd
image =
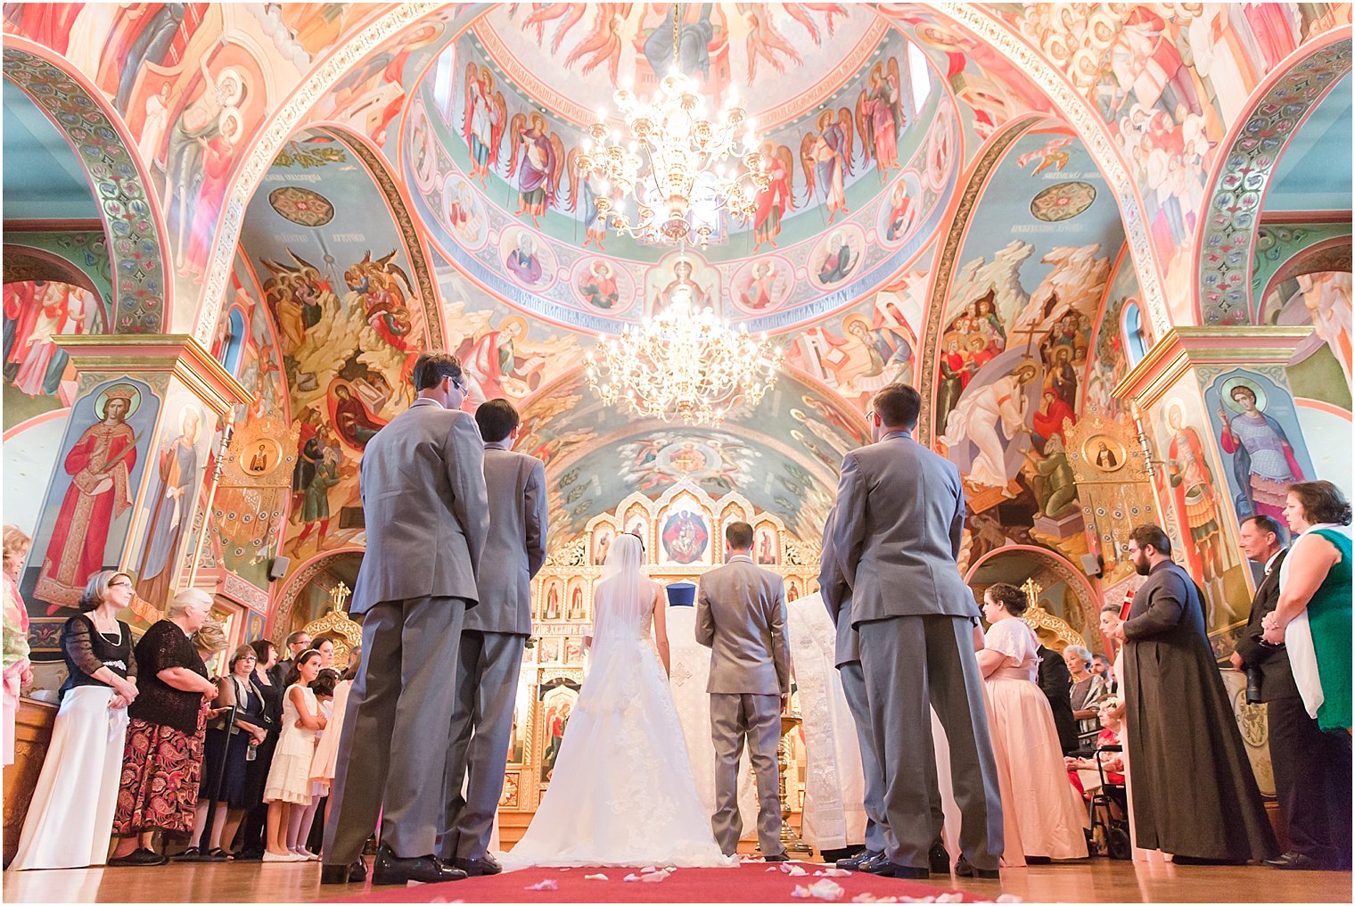
[[5, 35], [4, 77], [66, 137], [89, 179], [114, 275], [111, 330], [160, 332], [172, 301], [164, 214], [121, 117], [83, 73], [31, 41]]

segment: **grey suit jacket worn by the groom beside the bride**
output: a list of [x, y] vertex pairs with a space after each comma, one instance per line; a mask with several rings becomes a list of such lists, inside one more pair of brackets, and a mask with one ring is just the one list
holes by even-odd
[[701, 576], [696, 642], [711, 650], [706, 692], [790, 694], [786, 583], [751, 557]]

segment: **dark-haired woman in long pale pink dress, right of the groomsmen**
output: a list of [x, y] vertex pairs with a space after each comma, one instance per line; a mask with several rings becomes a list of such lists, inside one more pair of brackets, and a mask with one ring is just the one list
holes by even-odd
[[1039, 642], [1018, 618], [1027, 606], [1016, 586], [989, 587], [991, 625], [977, 654], [1003, 799], [1004, 867], [1087, 857], [1087, 808], [1068, 781], [1054, 715], [1037, 684]]

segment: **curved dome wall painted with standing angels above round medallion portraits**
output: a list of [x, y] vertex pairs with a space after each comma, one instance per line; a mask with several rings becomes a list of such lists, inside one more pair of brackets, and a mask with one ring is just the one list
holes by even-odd
[[[749, 224], [722, 222], [699, 252], [596, 231], [596, 178], [573, 164], [583, 127], [505, 87], [481, 34], [428, 68], [402, 167], [434, 244], [491, 293], [549, 320], [619, 332], [686, 283], [728, 320], [787, 330], [915, 258], [957, 183], [954, 103], [925, 57], [889, 30], [836, 94], [763, 133], [774, 180]], [[892, 106], [875, 130], [869, 104], [885, 94]]]

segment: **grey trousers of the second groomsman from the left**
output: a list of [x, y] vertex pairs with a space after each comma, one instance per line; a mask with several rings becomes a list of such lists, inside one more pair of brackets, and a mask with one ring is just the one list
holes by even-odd
[[484, 859], [489, 852], [526, 642], [526, 636], [507, 632], [461, 633], [457, 708], [447, 749], [446, 815], [438, 838], [438, 854], [444, 860]]

